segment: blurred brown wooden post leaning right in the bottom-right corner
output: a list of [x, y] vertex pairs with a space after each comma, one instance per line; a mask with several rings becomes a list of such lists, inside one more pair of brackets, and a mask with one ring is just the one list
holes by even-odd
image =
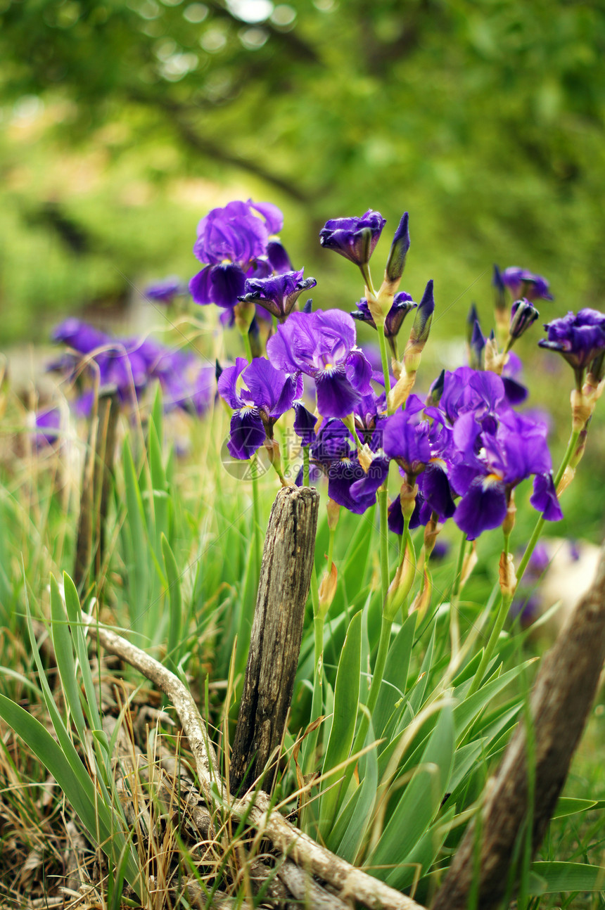
[[[541, 843], [590, 712], [605, 660], [605, 544], [597, 576], [544, 658], [530, 699], [534, 776], [532, 852]], [[432, 910], [466, 910], [479, 870], [479, 910], [498, 907], [513, 848], [528, 819], [528, 741], [519, 722], [486, 787], [481, 830], [470, 824]]]

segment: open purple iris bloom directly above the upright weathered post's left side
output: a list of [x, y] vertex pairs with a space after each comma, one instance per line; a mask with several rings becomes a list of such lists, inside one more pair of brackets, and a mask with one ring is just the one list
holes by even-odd
[[[241, 378], [241, 388], [237, 389]], [[273, 438], [273, 426], [302, 394], [302, 379], [284, 376], [268, 360], [248, 364], [238, 357], [218, 379], [218, 394], [235, 411], [227, 449], [233, 458], [248, 459], [264, 441]]]

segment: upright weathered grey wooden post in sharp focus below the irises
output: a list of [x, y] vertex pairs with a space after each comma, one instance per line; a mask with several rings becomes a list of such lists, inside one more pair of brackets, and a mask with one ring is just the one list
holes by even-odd
[[[229, 765], [232, 794], [246, 791], [265, 772], [286, 726], [311, 580], [318, 506], [319, 494], [312, 487], [284, 487], [273, 503]], [[265, 774], [262, 788], [267, 793], [274, 777], [275, 770]]]

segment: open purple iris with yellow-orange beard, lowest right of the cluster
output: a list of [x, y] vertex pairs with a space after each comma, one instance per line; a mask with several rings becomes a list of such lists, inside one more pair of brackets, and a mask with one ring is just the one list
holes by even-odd
[[496, 430], [486, 430], [468, 411], [456, 421], [453, 440], [456, 455], [450, 479], [462, 497], [454, 521], [469, 540], [499, 528], [507, 515], [511, 490], [531, 475], [535, 475], [531, 504], [547, 521], [562, 518], [544, 425], [503, 410]]

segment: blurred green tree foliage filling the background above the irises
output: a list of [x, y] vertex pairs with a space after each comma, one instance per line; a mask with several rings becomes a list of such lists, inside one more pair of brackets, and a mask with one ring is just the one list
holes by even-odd
[[433, 277], [449, 306], [481, 278], [487, 307], [496, 260], [546, 274], [558, 312], [600, 306], [600, 3], [0, 0], [0, 59], [7, 335], [30, 309], [193, 274], [195, 181], [284, 207], [342, 305], [357, 276], [318, 227], [372, 207], [388, 230], [410, 212], [416, 298]]

